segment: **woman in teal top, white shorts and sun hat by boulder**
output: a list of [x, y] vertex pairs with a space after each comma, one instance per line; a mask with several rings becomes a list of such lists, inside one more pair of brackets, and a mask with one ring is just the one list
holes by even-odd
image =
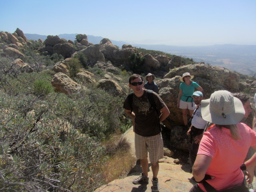
[[188, 110], [190, 116], [192, 116], [193, 106], [195, 105], [194, 100], [191, 96], [195, 92], [195, 88], [200, 92], [202, 92], [203, 90], [202, 87], [200, 87], [196, 82], [191, 81], [193, 78], [194, 76], [190, 75], [190, 73], [188, 72], [184, 73], [180, 78], [180, 81], [182, 81], [182, 83], [180, 84], [177, 107], [182, 109], [182, 118], [184, 126], [186, 128], [188, 128]]

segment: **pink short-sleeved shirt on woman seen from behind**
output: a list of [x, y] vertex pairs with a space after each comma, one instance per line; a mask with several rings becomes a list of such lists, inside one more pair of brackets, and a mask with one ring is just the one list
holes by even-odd
[[[246, 124], [238, 123], [239, 140], [231, 137], [230, 130], [214, 126], [204, 132], [197, 154], [212, 157], [212, 161], [206, 174], [215, 176], [207, 180], [217, 191], [240, 186], [244, 180], [244, 174], [240, 169], [246, 158], [250, 146], [256, 146], [256, 132]], [[199, 187], [206, 192], [202, 183]]]

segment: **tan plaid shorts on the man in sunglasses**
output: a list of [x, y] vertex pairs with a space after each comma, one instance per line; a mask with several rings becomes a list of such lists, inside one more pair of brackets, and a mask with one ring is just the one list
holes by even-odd
[[151, 163], [158, 162], [159, 159], [164, 158], [164, 145], [162, 134], [151, 137], [140, 136], [135, 133], [135, 154], [138, 159], [148, 157]]

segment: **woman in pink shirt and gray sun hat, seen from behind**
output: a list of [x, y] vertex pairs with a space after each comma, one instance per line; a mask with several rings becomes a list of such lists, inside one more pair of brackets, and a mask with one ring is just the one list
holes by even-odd
[[240, 169], [250, 146], [256, 149], [256, 132], [240, 123], [242, 102], [225, 90], [201, 102], [202, 118], [215, 124], [204, 132], [193, 176], [198, 182], [190, 192], [248, 192]]

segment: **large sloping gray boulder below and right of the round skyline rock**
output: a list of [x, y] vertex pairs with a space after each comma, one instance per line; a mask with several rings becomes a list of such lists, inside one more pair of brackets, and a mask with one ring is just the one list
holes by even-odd
[[78, 51], [77, 53], [84, 54], [88, 61], [90, 61], [92, 64], [95, 64], [98, 61], [105, 61], [104, 55], [102, 54], [102, 52], [100, 52], [99, 44], [88, 46], [87, 48]]

